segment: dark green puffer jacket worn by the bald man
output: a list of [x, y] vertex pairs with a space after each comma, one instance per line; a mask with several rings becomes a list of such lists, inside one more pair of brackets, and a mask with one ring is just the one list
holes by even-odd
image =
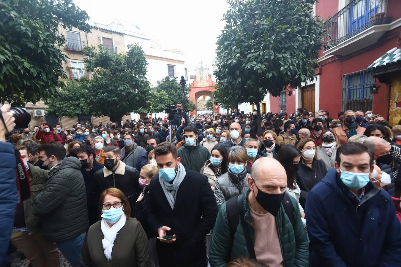
[[[249, 230], [251, 231], [251, 237], [253, 239], [255, 232], [251, 226], [251, 215], [249, 213], [247, 200], [249, 192], [250, 190], [248, 189], [243, 193], [243, 205], [245, 210], [244, 219], [249, 224]], [[284, 260], [283, 265], [285, 267], [309, 266], [308, 240], [306, 238], [304, 225], [301, 221], [300, 210], [296, 200], [292, 197], [290, 198], [292, 201], [294, 218], [296, 218], [294, 227], [286, 215], [283, 206], [279, 209], [277, 216], [275, 217]], [[212, 267], [224, 267], [233, 259], [249, 257], [240, 219], [237, 232], [234, 235], [234, 240], [231, 237], [226, 213], [226, 203], [227, 202], [221, 205], [212, 233], [212, 241], [209, 248], [209, 262]]]

